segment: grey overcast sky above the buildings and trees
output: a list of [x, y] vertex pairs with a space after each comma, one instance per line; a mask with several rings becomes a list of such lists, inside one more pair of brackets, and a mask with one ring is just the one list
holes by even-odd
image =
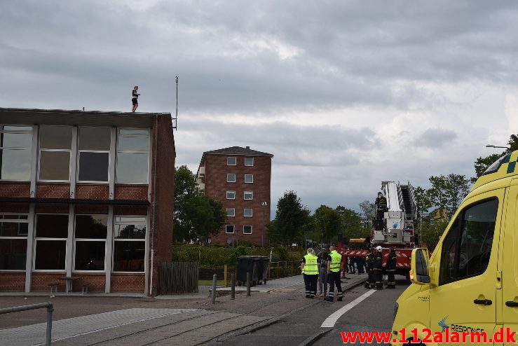
[[517, 1], [2, 1], [0, 106], [175, 113], [176, 165], [250, 146], [312, 211], [475, 174], [518, 133]]

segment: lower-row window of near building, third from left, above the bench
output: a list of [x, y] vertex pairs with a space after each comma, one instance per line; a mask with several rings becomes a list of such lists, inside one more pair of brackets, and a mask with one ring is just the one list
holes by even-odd
[[76, 215], [75, 270], [104, 270], [107, 215]]

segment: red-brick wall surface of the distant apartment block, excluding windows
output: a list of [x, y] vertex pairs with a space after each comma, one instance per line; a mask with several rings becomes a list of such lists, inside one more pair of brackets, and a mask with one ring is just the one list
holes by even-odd
[[[236, 166], [226, 165], [226, 158], [236, 157]], [[253, 166], [245, 166], [245, 155], [205, 155], [205, 193], [223, 203], [224, 209], [235, 208], [236, 216], [229, 216], [228, 223], [235, 226], [235, 233], [226, 234], [223, 228], [218, 235], [212, 236], [214, 244], [226, 244], [226, 240], [233, 237], [236, 240], [245, 240], [261, 245], [261, 234], [264, 231], [264, 244], [268, 245], [268, 228], [263, 226], [270, 220], [271, 205], [271, 157], [250, 156], [254, 158]], [[236, 174], [235, 183], [226, 182], [226, 174]], [[254, 182], [245, 183], [245, 174], [253, 174]], [[236, 191], [235, 200], [226, 199], [226, 191]], [[245, 200], [245, 191], [253, 191], [253, 199]], [[262, 202], [268, 206], [263, 207]], [[251, 208], [252, 217], [243, 216], [243, 209]], [[252, 234], [243, 234], [243, 226], [251, 225]], [[264, 228], [263, 228], [264, 227]]]

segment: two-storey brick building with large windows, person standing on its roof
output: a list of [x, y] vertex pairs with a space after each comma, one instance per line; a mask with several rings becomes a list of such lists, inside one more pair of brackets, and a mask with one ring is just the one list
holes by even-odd
[[175, 155], [170, 113], [0, 109], [0, 291], [156, 294]]

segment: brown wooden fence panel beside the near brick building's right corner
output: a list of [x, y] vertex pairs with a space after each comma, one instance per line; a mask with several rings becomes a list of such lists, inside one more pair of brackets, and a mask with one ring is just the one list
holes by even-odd
[[158, 263], [158, 294], [198, 292], [198, 263]]

